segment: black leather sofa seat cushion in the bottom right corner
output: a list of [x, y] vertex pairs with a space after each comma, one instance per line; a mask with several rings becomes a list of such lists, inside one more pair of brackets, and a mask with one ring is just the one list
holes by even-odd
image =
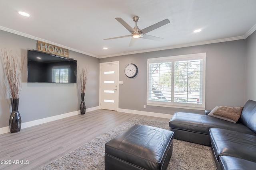
[[253, 170], [256, 162], [232, 156], [220, 156], [220, 167], [222, 170]]

